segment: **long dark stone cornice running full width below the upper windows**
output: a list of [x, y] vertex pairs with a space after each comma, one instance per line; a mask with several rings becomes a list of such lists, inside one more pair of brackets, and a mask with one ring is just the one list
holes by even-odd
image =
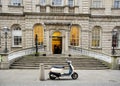
[[83, 13], [38, 13], [38, 12], [23, 12], [23, 13], [0, 13], [0, 16], [74, 16], [74, 17], [89, 17], [89, 18], [120, 18], [120, 15], [91, 15]]

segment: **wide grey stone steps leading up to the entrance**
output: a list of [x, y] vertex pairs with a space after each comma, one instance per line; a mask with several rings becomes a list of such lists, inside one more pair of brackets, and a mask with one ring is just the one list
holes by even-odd
[[24, 56], [15, 61], [10, 68], [11, 69], [38, 69], [40, 63], [45, 64], [45, 69], [50, 69], [53, 65], [63, 65], [68, 68], [65, 63], [66, 58], [72, 61], [72, 64], [76, 70], [104, 70], [109, 69], [106, 65], [97, 59], [80, 56], [80, 58], [61, 57], [61, 56]]

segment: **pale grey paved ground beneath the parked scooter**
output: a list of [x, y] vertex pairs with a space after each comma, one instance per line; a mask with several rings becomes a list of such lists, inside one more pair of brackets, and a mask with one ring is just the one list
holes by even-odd
[[0, 70], [0, 86], [120, 86], [120, 70], [77, 70], [79, 78], [39, 81], [39, 70]]

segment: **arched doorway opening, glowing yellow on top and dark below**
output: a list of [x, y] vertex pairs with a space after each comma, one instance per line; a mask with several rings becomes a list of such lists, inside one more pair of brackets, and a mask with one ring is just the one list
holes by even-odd
[[60, 32], [55, 32], [52, 35], [52, 52], [53, 54], [62, 53], [62, 37]]

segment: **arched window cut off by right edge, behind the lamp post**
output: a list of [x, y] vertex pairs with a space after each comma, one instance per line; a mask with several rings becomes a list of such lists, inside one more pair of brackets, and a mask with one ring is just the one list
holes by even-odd
[[116, 27], [115, 28], [116, 32], [113, 33], [113, 43], [114, 43], [114, 47], [116, 48], [120, 48], [120, 27]]

